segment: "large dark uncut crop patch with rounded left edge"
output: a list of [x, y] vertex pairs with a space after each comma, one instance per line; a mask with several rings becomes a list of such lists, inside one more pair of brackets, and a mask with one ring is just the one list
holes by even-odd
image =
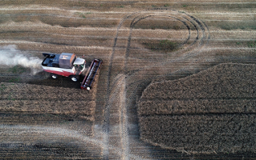
[[255, 71], [228, 63], [150, 84], [137, 105], [140, 138], [189, 153], [255, 152]]

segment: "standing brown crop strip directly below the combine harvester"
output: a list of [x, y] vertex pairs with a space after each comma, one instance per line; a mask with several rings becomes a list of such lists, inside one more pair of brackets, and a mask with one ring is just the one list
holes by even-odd
[[94, 92], [23, 83], [1, 82], [1, 86], [1, 112], [64, 114], [94, 121]]

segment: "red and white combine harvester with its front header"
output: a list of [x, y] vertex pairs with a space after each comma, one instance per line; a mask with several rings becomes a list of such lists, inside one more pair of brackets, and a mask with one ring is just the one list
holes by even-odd
[[79, 81], [80, 76], [84, 76], [81, 83], [81, 89], [91, 90], [91, 86], [96, 75], [100, 72], [100, 66], [103, 61], [94, 59], [88, 70], [85, 68], [86, 61], [83, 58], [77, 58], [75, 54], [46, 54], [42, 62], [43, 70], [51, 73], [51, 78], [58, 78], [59, 75], [70, 77], [71, 81]]

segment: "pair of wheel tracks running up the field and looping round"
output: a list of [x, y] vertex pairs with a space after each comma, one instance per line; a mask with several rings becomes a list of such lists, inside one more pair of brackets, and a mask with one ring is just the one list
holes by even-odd
[[[159, 13], [158, 13], [159, 14]], [[130, 157], [128, 156], [129, 152], [130, 152], [130, 149], [129, 149], [129, 136], [128, 136], [128, 132], [132, 131], [132, 130], [129, 130], [128, 128], [128, 121], [129, 121], [129, 117], [128, 117], [128, 110], [131, 109], [131, 105], [134, 105], [132, 104], [130, 101], [130, 98], [133, 97], [133, 94], [131, 95], [127, 95], [127, 80], [126, 78], [129, 76], [131, 76], [132, 74], [135, 74], [141, 70], [144, 70], [144, 68], [142, 69], [139, 69], [139, 70], [132, 70], [132, 74], [128, 72], [128, 58], [129, 58], [129, 52], [130, 52], [130, 48], [131, 48], [131, 40], [132, 40], [132, 29], [133, 27], [138, 23], [140, 22], [141, 20], [145, 19], [145, 18], [149, 18], [149, 17], [152, 17], [154, 15], [152, 14], [144, 14], [142, 12], [136, 12], [136, 13], [132, 13], [132, 14], [129, 14], [127, 17], [123, 18], [119, 24], [119, 26], [117, 27], [117, 32], [116, 32], [116, 37], [114, 38], [114, 44], [113, 44], [113, 47], [112, 47], [112, 54], [111, 54], [111, 58], [110, 58], [110, 62], [109, 62], [109, 66], [108, 66], [108, 86], [107, 86], [107, 98], [106, 98], [106, 105], [104, 107], [104, 126], [103, 126], [103, 130], [104, 130], [104, 159], [108, 159], [110, 158], [110, 153], [109, 153], [109, 150], [108, 150], [108, 142], [109, 142], [109, 131], [110, 131], [110, 105], [111, 105], [111, 102], [112, 102], [112, 98], [111, 98], [111, 93], [112, 93], [112, 90], [114, 91], [115, 88], [112, 88], [111, 86], [111, 70], [112, 70], [112, 59], [114, 57], [114, 53], [115, 53], [115, 50], [116, 50], [116, 43], [117, 43], [117, 38], [118, 38], [118, 32], [119, 32], [119, 29], [120, 27], [123, 25], [124, 21], [126, 21], [128, 18], [131, 18], [132, 16], [136, 16], [135, 18], [132, 19], [132, 22], [130, 23], [130, 30], [129, 30], [129, 34], [128, 34], [128, 42], [127, 42], [127, 46], [126, 46], [126, 49], [125, 49], [125, 55], [124, 55], [124, 82], [122, 82], [122, 87], [123, 87], [123, 91], [120, 93], [120, 97], [124, 98], [123, 100], [121, 100], [121, 108], [120, 108], [120, 136], [121, 136], [121, 146], [123, 146], [123, 158], [125, 159], [129, 159]], [[161, 14], [160, 14], [161, 16]], [[189, 24], [187, 24], [185, 22], [186, 19], [188, 18], [185, 18], [185, 16], [181, 17], [183, 18], [181, 20], [181, 18], [176, 18], [176, 17], [173, 17], [173, 16], [170, 16], [170, 15], [164, 15], [165, 17], [169, 17], [169, 18], [175, 18], [179, 21], [181, 21], [188, 29], [188, 32], [189, 32], [189, 36], [188, 38], [185, 40], [185, 42], [183, 42], [181, 44], [181, 46], [184, 46], [187, 42], [189, 42], [189, 39], [191, 38], [191, 32], [190, 32], [190, 27], [189, 27]], [[184, 20], [185, 19], [185, 20]], [[203, 39], [205, 38], [205, 34], [203, 33], [202, 34], [202, 38], [199, 39], [199, 30], [197, 28], [197, 25], [194, 24], [194, 22], [189, 21], [197, 30], [197, 37], [195, 38], [195, 40], [193, 41], [193, 44], [190, 45], [189, 47], [192, 47], [196, 42], [198, 42], [198, 46], [197, 48], [199, 48], [200, 46], [203, 45]], [[201, 26], [201, 23], [198, 25], [198, 26]], [[201, 26], [201, 30], [202, 32], [205, 31], [204, 29], [204, 26]], [[181, 47], [180, 46], [180, 47]], [[184, 50], [178, 50], [177, 53], [180, 53], [180, 52], [183, 52]], [[175, 53], [175, 54], [177, 54]], [[182, 59], [185, 59], [185, 58], [182, 58]], [[178, 58], [178, 59], [175, 59], [175, 61], [181, 61], [181, 58]], [[159, 64], [157, 64], [157, 66], [162, 66], [163, 64], [165, 63], [169, 63], [171, 62], [169, 59], [167, 59], [165, 62], [161, 62]], [[140, 79], [137, 79], [137, 82], [135, 82], [132, 86], [138, 86], [139, 83], [141, 82], [144, 82], [144, 79], [143, 78], [140, 78]], [[113, 85], [115, 85], [115, 83], [113, 83]], [[129, 86], [131, 87], [131, 86]], [[135, 89], [137, 90], [137, 88]], [[115, 92], [115, 91], [114, 91]], [[116, 93], [116, 92], [115, 92]], [[127, 97], [128, 96], [128, 97]], [[128, 100], [127, 100], [128, 99]], [[129, 104], [127, 104], [127, 101]], [[131, 114], [131, 113], [129, 113]], [[136, 113], [132, 113], [132, 114], [136, 114]], [[136, 133], [137, 134], [137, 133]]]

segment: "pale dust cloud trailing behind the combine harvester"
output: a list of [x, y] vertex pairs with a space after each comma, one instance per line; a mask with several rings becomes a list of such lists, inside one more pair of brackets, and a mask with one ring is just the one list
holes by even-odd
[[22, 66], [30, 68], [31, 74], [37, 74], [42, 71], [41, 62], [43, 59], [37, 57], [28, 57], [22, 54], [20, 50], [16, 49], [16, 46], [0, 46], [0, 65], [6, 66]]

